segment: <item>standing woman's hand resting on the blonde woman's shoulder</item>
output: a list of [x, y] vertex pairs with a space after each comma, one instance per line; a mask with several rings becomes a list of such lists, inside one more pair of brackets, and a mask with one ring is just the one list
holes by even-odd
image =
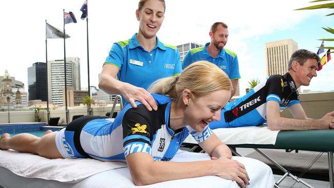
[[152, 109], [158, 109], [157, 103], [151, 93], [146, 91], [144, 88], [125, 83], [121, 88], [121, 93], [124, 99], [134, 108], [137, 107], [135, 101], [139, 101], [150, 111], [152, 111]]

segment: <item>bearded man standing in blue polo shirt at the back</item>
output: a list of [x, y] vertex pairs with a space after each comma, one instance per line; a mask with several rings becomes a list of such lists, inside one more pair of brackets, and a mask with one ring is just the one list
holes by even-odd
[[211, 26], [209, 35], [211, 42], [205, 46], [194, 48], [188, 51], [182, 62], [182, 69], [189, 66], [191, 63], [206, 60], [216, 64], [224, 70], [233, 85], [231, 97], [234, 96], [238, 79], [240, 79], [239, 63], [236, 54], [233, 51], [225, 49], [227, 43], [229, 30], [225, 23], [216, 22]]

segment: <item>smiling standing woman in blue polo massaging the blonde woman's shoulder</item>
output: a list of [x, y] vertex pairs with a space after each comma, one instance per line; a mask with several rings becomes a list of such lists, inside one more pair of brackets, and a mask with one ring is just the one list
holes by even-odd
[[[139, 31], [131, 39], [113, 44], [103, 64], [99, 87], [109, 94], [122, 95], [123, 103], [135, 101], [147, 109], [157, 104], [146, 89], [156, 80], [181, 73], [178, 49], [161, 43], [157, 37], [164, 19], [163, 0], [140, 0], [136, 17]], [[115, 79], [118, 77], [119, 80]]]

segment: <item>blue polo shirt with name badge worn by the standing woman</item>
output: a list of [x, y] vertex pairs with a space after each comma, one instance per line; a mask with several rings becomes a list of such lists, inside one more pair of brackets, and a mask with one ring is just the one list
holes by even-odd
[[163, 44], [156, 37], [157, 44], [149, 52], [139, 45], [136, 35], [114, 43], [103, 64], [117, 66], [120, 81], [147, 89], [160, 78], [177, 76], [182, 72], [180, 54], [175, 46]]

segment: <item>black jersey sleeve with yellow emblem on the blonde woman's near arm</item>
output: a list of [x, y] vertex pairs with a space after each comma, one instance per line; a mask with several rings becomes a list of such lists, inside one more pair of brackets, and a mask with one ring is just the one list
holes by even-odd
[[123, 117], [123, 149], [125, 157], [136, 152], [151, 154], [150, 113], [144, 105], [128, 109]]

